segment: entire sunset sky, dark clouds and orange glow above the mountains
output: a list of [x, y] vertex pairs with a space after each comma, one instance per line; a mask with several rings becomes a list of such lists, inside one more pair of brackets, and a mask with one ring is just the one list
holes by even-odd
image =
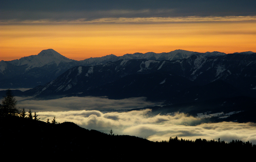
[[0, 2], [0, 60], [52, 48], [84, 60], [135, 52], [256, 52], [256, 1]]

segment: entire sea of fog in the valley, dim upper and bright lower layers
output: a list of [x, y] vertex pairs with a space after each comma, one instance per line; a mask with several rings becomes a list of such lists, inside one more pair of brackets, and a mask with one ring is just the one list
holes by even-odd
[[17, 107], [28, 112], [36, 112], [41, 121], [74, 122], [85, 129], [95, 129], [108, 133], [110, 129], [115, 135], [131, 135], [151, 141], [169, 140], [170, 137], [195, 140], [217, 140], [230, 142], [234, 140], [250, 141], [256, 144], [256, 124], [219, 122], [204, 123], [202, 119], [187, 116], [183, 113], [175, 115], [153, 115], [151, 109], [140, 111], [124, 111], [137, 107], [160, 105], [147, 101], [146, 98], [108, 99], [106, 97], [64, 97], [60, 99], [31, 99], [31, 97], [15, 97]]

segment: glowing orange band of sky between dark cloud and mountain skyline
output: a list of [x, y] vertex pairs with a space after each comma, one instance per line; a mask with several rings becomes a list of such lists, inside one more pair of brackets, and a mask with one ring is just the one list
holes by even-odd
[[37, 55], [52, 48], [84, 60], [135, 52], [256, 52], [256, 22], [1, 24], [0, 60]]

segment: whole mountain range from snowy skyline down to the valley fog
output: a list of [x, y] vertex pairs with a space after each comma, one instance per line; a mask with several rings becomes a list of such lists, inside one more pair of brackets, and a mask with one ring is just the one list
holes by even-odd
[[1, 88], [34, 87], [15, 91], [19, 96], [147, 97], [163, 103], [150, 107], [156, 114], [246, 110], [247, 117], [232, 121], [255, 121], [250, 114], [256, 106], [256, 54], [251, 51], [175, 50], [76, 61], [47, 49], [19, 60], [1, 61], [0, 69]]

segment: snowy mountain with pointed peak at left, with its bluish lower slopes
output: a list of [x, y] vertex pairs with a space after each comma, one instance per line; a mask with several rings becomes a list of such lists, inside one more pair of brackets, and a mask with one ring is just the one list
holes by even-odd
[[[76, 66], [76, 64], [74, 65], [76, 62], [60, 55], [53, 49], [42, 50], [38, 55], [30, 55], [17, 60], [1, 61], [0, 87], [34, 87], [45, 84], [69, 68]], [[56, 70], [58, 68], [61, 70]]]

